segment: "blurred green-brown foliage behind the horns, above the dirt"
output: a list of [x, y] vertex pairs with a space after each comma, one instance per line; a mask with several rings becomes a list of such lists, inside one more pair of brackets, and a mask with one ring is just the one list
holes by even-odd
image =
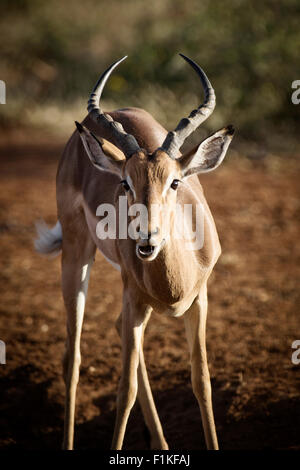
[[2, 0], [1, 79], [8, 106], [2, 127], [69, 132], [84, 116], [102, 71], [128, 55], [109, 81], [107, 108], [145, 107], [168, 128], [199, 102], [196, 76], [182, 52], [207, 72], [218, 106], [205, 124], [233, 122], [241, 140], [288, 147], [299, 109], [291, 84], [299, 78], [297, 0]]

